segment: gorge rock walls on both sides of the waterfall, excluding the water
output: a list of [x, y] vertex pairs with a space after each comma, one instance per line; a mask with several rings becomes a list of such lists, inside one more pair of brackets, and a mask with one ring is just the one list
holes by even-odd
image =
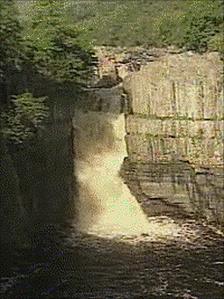
[[[77, 135], [72, 119], [80, 108], [100, 112], [104, 119], [124, 114], [127, 157], [121, 174], [147, 214], [186, 214], [223, 228], [223, 73], [218, 54], [101, 47], [96, 55], [98, 67], [82, 97], [70, 87], [21, 76], [34, 94], [48, 92], [51, 117], [32, 142], [1, 147], [2, 243], [19, 239], [20, 245], [29, 244], [30, 230], [40, 222], [74, 218]], [[14, 92], [20, 89], [18, 85]], [[113, 138], [111, 133], [97, 140]]]

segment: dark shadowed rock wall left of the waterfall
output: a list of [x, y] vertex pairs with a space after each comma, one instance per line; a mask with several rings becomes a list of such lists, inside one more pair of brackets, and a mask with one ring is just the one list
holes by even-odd
[[[36, 79], [36, 80], [35, 80]], [[43, 130], [22, 145], [1, 140], [1, 243], [29, 244], [32, 231], [74, 213], [72, 112], [76, 88], [16, 74], [10, 94], [48, 96], [49, 118]], [[22, 240], [22, 241], [21, 241]]]

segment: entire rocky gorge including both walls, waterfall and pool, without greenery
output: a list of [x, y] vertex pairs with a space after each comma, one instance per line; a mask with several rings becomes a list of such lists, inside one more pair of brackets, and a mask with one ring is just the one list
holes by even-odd
[[219, 57], [97, 55], [80, 95], [36, 80], [51, 117], [0, 148], [1, 298], [221, 299]]

